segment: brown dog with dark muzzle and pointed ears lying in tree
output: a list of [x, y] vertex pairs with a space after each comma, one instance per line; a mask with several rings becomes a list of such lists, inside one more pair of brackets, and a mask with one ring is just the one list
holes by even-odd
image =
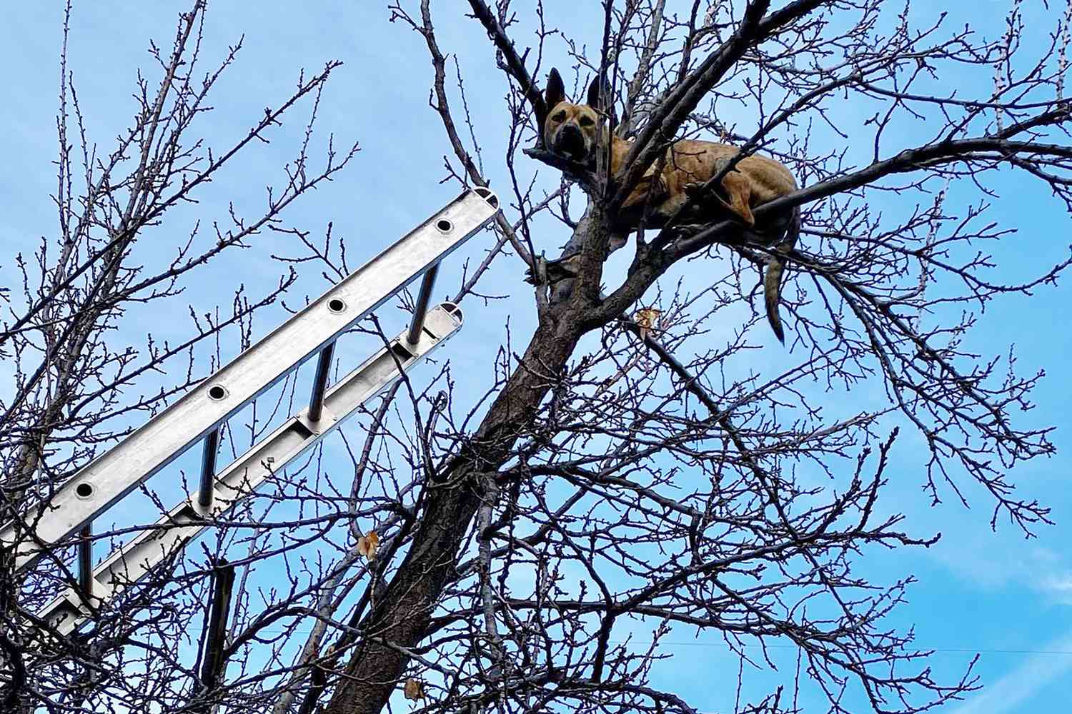
[[[557, 70], [548, 77], [546, 101], [548, 115], [544, 121], [544, 146], [553, 154], [582, 164], [595, 161], [600, 148], [599, 78], [589, 87], [586, 104], [572, 104], [566, 100], [565, 86]], [[605, 143], [601, 146], [606, 146]], [[611, 137], [610, 173], [614, 176], [625, 163], [632, 147], [631, 141]], [[763, 297], [766, 318], [779, 341], [785, 341], [778, 303], [785, 258], [800, 234], [800, 209], [793, 208], [757, 224], [751, 210], [779, 196], [796, 191], [796, 181], [785, 166], [765, 156], [749, 155], [738, 162], [721, 180], [721, 194], [699, 189], [725, 168], [738, 154], [738, 149], [714, 141], [682, 139], [667, 149], [664, 162], [656, 162], [644, 173], [637, 187], [622, 204], [619, 228], [628, 232], [640, 227], [657, 228], [673, 216], [681, 223], [711, 223], [723, 218], [736, 218], [744, 225], [746, 236], [775, 253], [766, 264], [763, 277]], [[682, 215], [683, 208], [690, 207]], [[625, 244], [622, 236], [611, 242], [611, 252]], [[568, 260], [568, 258], [566, 259]], [[567, 268], [567, 267], [564, 267]]]

